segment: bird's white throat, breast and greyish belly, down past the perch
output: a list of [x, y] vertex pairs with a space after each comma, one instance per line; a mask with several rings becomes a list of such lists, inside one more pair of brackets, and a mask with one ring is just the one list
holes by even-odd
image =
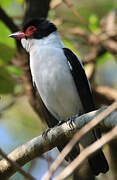
[[[21, 42], [30, 53], [32, 78], [47, 109], [58, 120], [67, 120], [79, 111], [83, 112], [58, 33], [41, 40], [22, 39]], [[86, 137], [81, 142], [85, 146], [95, 140], [90, 133]]]

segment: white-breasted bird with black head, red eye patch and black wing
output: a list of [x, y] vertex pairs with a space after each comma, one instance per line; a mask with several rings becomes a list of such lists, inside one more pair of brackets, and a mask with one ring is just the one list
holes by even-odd
[[[80, 116], [95, 110], [83, 64], [75, 53], [64, 46], [54, 23], [45, 18], [33, 18], [23, 25], [21, 31], [9, 37], [19, 39], [29, 53], [33, 83], [55, 119], [47, 121], [49, 128], [72, 119], [76, 114]], [[94, 128], [80, 143], [87, 147], [100, 137], [100, 130]], [[66, 144], [59, 145], [58, 149], [61, 151]], [[78, 154], [79, 148], [74, 146], [67, 157], [73, 160]], [[88, 162], [95, 176], [109, 170], [102, 150], [89, 157]]]

